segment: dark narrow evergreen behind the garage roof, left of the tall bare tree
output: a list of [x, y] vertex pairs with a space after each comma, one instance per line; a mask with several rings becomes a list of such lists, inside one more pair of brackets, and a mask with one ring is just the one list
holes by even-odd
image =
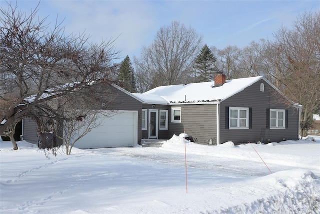
[[124, 60], [120, 63], [118, 69], [118, 85], [131, 92], [136, 92], [136, 82], [134, 77], [134, 69], [132, 67], [129, 56], [126, 56]]

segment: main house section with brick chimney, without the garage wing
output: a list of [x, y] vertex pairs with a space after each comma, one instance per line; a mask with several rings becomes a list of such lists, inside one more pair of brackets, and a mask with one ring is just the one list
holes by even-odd
[[153, 101], [153, 111], [168, 105], [164, 139], [180, 133], [214, 145], [298, 139], [300, 106], [285, 104], [286, 98], [263, 77], [225, 80], [218, 74], [214, 82], [160, 86], [134, 95], [149, 105]]

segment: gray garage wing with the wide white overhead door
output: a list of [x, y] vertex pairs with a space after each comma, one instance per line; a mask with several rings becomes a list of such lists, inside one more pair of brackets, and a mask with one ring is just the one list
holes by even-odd
[[[103, 84], [100, 86], [103, 89], [97, 90], [112, 95], [111, 105], [103, 107], [104, 105], [101, 103], [101, 110], [107, 114], [109, 113], [109, 117], [101, 115], [101, 126], [91, 130], [91, 132], [80, 138], [76, 142], [75, 147], [106, 148], [136, 146], [141, 141], [142, 101], [116, 85]], [[24, 140], [34, 144], [38, 143], [39, 133], [37, 132], [37, 125], [32, 119], [23, 119], [22, 132]]]

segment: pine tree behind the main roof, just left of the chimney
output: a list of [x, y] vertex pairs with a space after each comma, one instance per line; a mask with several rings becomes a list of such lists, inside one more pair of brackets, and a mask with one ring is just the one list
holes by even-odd
[[217, 73], [213, 66], [215, 61], [216, 58], [205, 44], [194, 59], [193, 67], [195, 68], [195, 76], [198, 82], [207, 82], [214, 78], [214, 74]]

